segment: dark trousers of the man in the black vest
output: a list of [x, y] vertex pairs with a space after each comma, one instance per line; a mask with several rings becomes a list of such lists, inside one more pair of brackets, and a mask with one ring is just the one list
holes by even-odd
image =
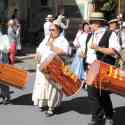
[[101, 90], [100, 92], [99, 89], [88, 86], [88, 98], [93, 118], [98, 119], [102, 115], [109, 119], [113, 117], [113, 106], [108, 91]]

